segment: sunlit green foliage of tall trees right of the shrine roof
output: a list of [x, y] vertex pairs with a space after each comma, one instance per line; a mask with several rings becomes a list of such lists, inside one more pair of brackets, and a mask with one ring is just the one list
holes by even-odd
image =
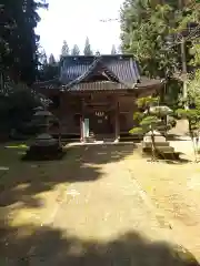
[[199, 50], [199, 20], [200, 6], [194, 1], [124, 0], [121, 10], [123, 52], [134, 55], [142, 74], [167, 78], [164, 103], [171, 102], [171, 106], [178, 103], [180, 90], [180, 81], [171, 78], [174, 72], [182, 70], [182, 35], [187, 41], [188, 71], [193, 69], [189, 65], [191, 59], [196, 65], [199, 61], [193, 60], [194, 51]]

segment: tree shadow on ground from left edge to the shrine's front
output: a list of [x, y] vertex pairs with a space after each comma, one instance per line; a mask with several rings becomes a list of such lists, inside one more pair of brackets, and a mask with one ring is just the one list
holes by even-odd
[[0, 207], [21, 203], [27, 207], [41, 207], [36, 198], [59, 184], [96, 181], [101, 177], [101, 165], [119, 162], [132, 154], [136, 146], [92, 145], [73, 146], [67, 150], [61, 161], [21, 162], [19, 150], [0, 147]]

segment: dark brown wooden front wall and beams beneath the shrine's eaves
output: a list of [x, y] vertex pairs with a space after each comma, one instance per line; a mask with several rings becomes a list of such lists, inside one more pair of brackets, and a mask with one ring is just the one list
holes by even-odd
[[[42, 91], [41, 91], [42, 92]], [[47, 95], [47, 91], [43, 91]], [[66, 135], [79, 135], [80, 136], [80, 119], [82, 115], [82, 99], [84, 99], [84, 112], [96, 112], [98, 108], [100, 110], [110, 112], [110, 120], [112, 127], [114, 129], [116, 117], [114, 108], [116, 101], [119, 102], [119, 127], [120, 133], [128, 133], [133, 127], [133, 112], [136, 112], [136, 99], [130, 95], [118, 95], [116, 93], [94, 93], [89, 94], [69, 94], [58, 93], [58, 91], [49, 90], [48, 96], [50, 99], [59, 99], [59, 106], [52, 106], [51, 112], [59, 119], [61, 123], [61, 133]], [[94, 105], [92, 110], [92, 104]], [[99, 106], [98, 106], [99, 105]], [[54, 129], [53, 129], [54, 130]], [[56, 130], [54, 130], [56, 131]]]

